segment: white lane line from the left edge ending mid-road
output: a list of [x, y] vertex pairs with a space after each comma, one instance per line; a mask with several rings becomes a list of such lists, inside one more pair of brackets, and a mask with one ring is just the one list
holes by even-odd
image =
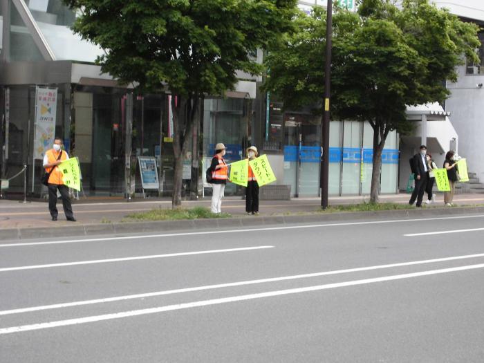
[[191, 256], [193, 254], [209, 254], [209, 253], [221, 253], [221, 252], [262, 250], [264, 248], [274, 248], [274, 246], [273, 245], [259, 245], [259, 246], [255, 246], [255, 247], [227, 248], [227, 249], [224, 249], [224, 250], [207, 250], [207, 251], [179, 252], [179, 253], [168, 253], [168, 254], [151, 254], [149, 256], [122, 257], [122, 258], [119, 258], [119, 259], [102, 259], [102, 260], [91, 260], [91, 261], [48, 263], [47, 265], [32, 265], [32, 266], [18, 266], [18, 267], [0, 268], [0, 272], [18, 271], [18, 270], [33, 270], [35, 268], [52, 268], [52, 267], [61, 267], [61, 266], [89, 265], [91, 263], [136, 261], [136, 260], [145, 260], [145, 259], [162, 259], [162, 258], [165, 258], [165, 257]]

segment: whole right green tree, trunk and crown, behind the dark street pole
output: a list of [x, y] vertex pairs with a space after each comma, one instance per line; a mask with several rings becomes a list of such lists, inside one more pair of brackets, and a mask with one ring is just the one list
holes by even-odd
[[[369, 122], [373, 128], [371, 201], [378, 202], [382, 150], [390, 131], [407, 133], [408, 105], [443, 102], [445, 80], [455, 81], [464, 57], [478, 62], [478, 27], [428, 0], [362, 0], [357, 12], [333, 17], [331, 113], [336, 120]], [[266, 59], [265, 89], [286, 108], [319, 104], [324, 94], [326, 10], [299, 14], [295, 32]]]

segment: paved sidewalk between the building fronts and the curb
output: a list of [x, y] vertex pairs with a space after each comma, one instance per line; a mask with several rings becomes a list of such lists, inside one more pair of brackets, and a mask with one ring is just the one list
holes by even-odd
[[[392, 194], [380, 196], [380, 202], [408, 203], [409, 194]], [[484, 207], [470, 207], [484, 205], [484, 194], [459, 194], [455, 196], [454, 203], [465, 208], [449, 208], [443, 205], [443, 196], [437, 196], [437, 202], [425, 206], [422, 210], [401, 210], [381, 212], [382, 215], [395, 216], [409, 213], [425, 214], [456, 214], [465, 210], [471, 212], [484, 212]], [[330, 198], [330, 205], [346, 205], [369, 201], [369, 196], [344, 196]], [[48, 205], [46, 202], [19, 203], [18, 201], [0, 200], [0, 239], [24, 239], [41, 236], [62, 236], [69, 230], [71, 235], [105, 234], [121, 232], [145, 232], [149, 230], [178, 230], [195, 227], [221, 227], [236, 225], [259, 225], [270, 223], [293, 223], [295, 221], [315, 220], [342, 220], [342, 218], [355, 218], [357, 215], [377, 215], [379, 212], [316, 214], [319, 210], [319, 198], [293, 198], [290, 201], [261, 201], [260, 216], [247, 216], [245, 214], [245, 201], [240, 197], [225, 198], [222, 211], [232, 214], [232, 218], [210, 219], [205, 221], [162, 221], [162, 222], [135, 222], [120, 223], [122, 218], [133, 212], [149, 211], [153, 208], [170, 208], [171, 201], [164, 199], [136, 199], [127, 203], [124, 199], [104, 199], [93, 201], [84, 199], [73, 202], [73, 210], [77, 223], [68, 222], [64, 218], [62, 204], [59, 203], [59, 221], [50, 221]], [[198, 201], [184, 201], [183, 207], [210, 207], [210, 198]], [[416, 214], [416, 215], [417, 215]], [[425, 215], [423, 214], [423, 215]], [[333, 216], [331, 216], [333, 215]], [[345, 217], [346, 216], [346, 217]], [[291, 217], [291, 218], [289, 218]], [[273, 220], [273, 221], [272, 221]], [[292, 221], [292, 222], [291, 222]], [[64, 228], [62, 228], [64, 227]], [[59, 230], [62, 229], [62, 232]], [[50, 231], [50, 232], [49, 232]]]

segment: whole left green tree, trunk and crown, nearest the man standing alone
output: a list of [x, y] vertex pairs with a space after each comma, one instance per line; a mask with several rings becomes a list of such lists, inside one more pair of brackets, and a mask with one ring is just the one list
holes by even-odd
[[[139, 92], [173, 95], [174, 192], [181, 205], [183, 156], [203, 95], [233, 89], [236, 71], [263, 71], [250, 56], [288, 30], [296, 0], [64, 0], [73, 30], [106, 50], [104, 73]], [[175, 97], [176, 96], [176, 97]], [[223, 140], [219, 140], [223, 142]]]

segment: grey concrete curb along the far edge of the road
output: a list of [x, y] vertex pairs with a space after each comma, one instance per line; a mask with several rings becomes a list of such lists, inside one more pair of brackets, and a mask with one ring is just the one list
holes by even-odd
[[143, 232], [185, 232], [230, 227], [261, 227], [297, 223], [342, 222], [359, 219], [378, 221], [392, 219], [431, 218], [432, 216], [458, 216], [484, 214], [484, 207], [432, 208], [431, 210], [385, 210], [375, 212], [341, 212], [331, 214], [300, 214], [288, 216], [234, 217], [189, 219], [180, 221], [153, 221], [133, 223], [98, 223], [62, 227], [8, 228], [0, 230], [0, 241], [53, 237], [96, 236], [100, 234], [132, 234]]

